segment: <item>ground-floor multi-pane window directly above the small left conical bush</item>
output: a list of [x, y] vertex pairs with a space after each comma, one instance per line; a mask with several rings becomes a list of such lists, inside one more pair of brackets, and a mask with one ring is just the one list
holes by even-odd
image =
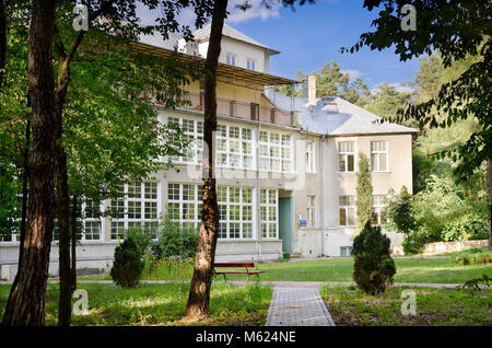
[[[124, 237], [125, 230], [130, 228], [150, 229], [155, 232], [160, 213], [157, 183], [125, 184], [120, 193], [124, 197], [110, 202], [112, 240]], [[91, 233], [95, 233], [95, 224], [90, 223], [87, 227]]]

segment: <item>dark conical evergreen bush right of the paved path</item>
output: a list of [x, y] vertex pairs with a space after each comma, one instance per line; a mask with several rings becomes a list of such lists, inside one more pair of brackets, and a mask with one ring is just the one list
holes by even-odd
[[396, 267], [389, 244], [380, 228], [372, 227], [370, 222], [353, 241], [353, 279], [366, 293], [384, 292], [386, 283], [393, 283]]

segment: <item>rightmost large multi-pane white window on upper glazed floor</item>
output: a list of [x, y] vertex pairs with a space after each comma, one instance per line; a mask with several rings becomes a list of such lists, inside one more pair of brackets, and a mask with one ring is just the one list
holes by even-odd
[[290, 135], [260, 131], [260, 170], [270, 172], [292, 172], [292, 146]]

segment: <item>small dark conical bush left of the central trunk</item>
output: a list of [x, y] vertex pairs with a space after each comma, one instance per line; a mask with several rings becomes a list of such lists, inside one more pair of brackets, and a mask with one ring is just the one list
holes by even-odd
[[143, 262], [140, 248], [132, 237], [115, 250], [115, 260], [110, 271], [113, 280], [122, 288], [134, 288], [140, 283]]

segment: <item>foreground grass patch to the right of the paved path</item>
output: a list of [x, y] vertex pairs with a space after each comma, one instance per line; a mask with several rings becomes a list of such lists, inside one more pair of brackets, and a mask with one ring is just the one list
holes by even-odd
[[321, 297], [339, 326], [372, 325], [492, 325], [492, 289], [470, 292], [459, 289], [412, 288], [415, 314], [402, 315], [402, 288], [366, 295], [356, 287], [323, 287]]

